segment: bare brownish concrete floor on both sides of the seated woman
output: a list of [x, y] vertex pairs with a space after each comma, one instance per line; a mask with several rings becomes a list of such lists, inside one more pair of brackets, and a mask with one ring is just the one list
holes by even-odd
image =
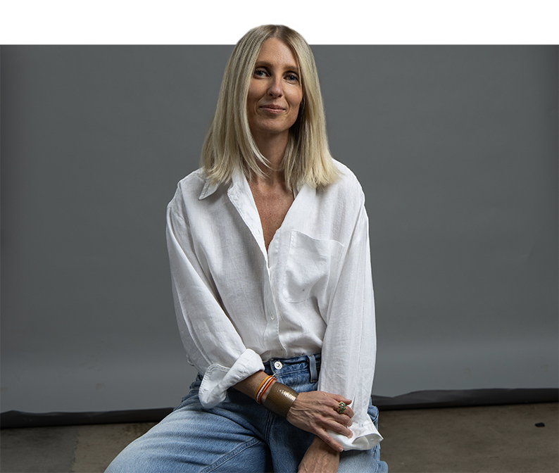
[[[559, 472], [559, 403], [391, 410], [379, 419], [390, 473]], [[0, 472], [103, 473], [151, 426], [1, 429]]]

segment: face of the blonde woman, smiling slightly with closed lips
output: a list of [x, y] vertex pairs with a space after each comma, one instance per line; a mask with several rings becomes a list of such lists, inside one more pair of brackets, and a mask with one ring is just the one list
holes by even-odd
[[284, 134], [297, 120], [303, 99], [300, 72], [291, 48], [281, 39], [262, 45], [246, 101], [249, 126], [256, 141]]

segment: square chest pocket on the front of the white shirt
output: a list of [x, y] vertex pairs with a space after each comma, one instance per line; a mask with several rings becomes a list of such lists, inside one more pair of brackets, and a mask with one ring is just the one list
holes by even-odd
[[301, 302], [310, 297], [326, 303], [334, 290], [341, 270], [344, 245], [335, 240], [317, 240], [291, 231], [289, 253], [284, 273], [283, 296], [288, 302]]

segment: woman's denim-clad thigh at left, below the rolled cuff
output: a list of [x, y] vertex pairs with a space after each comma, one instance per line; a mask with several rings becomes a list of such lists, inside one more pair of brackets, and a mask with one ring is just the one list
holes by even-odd
[[205, 410], [197, 390], [191, 391], [175, 411], [127, 446], [106, 473], [268, 472], [268, 446], [239, 406], [227, 401], [221, 404], [225, 407]]

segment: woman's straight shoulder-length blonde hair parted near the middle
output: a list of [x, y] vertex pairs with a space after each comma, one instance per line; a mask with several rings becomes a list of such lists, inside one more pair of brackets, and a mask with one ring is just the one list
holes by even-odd
[[263, 23], [246, 32], [235, 46], [221, 83], [218, 106], [204, 139], [201, 164], [211, 182], [229, 182], [234, 170], [263, 177], [258, 162], [268, 165], [249, 128], [246, 100], [256, 59], [266, 39], [276, 37], [293, 51], [299, 64], [303, 100], [289, 129], [282, 159], [288, 189], [310, 184], [320, 188], [339, 172], [329, 151], [326, 121], [315, 59], [299, 32], [287, 25]]

